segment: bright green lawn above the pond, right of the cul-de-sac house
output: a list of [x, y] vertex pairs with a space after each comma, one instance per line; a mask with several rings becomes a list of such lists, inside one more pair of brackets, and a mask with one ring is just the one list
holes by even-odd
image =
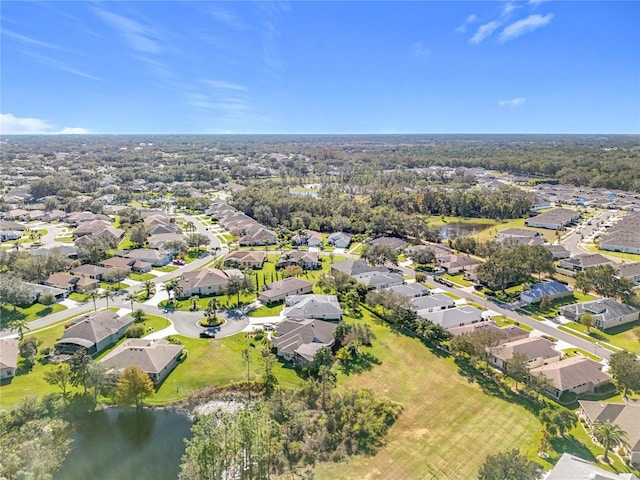
[[[146, 403], [161, 405], [185, 398], [194, 391], [209, 385], [229, 385], [245, 381], [247, 368], [242, 361], [242, 350], [251, 352], [250, 378], [258, 380], [264, 367], [261, 360], [263, 345], [247, 338], [234, 335], [222, 339], [200, 339], [176, 336], [188, 355], [171, 372], [155, 395]], [[294, 387], [302, 383], [288, 363], [278, 360], [273, 373], [284, 387]]]

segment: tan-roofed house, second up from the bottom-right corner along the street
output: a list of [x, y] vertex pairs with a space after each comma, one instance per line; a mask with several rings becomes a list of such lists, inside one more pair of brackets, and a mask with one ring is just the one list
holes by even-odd
[[590, 358], [576, 356], [560, 362], [541, 365], [530, 370], [532, 375], [544, 375], [553, 389], [547, 393], [556, 400], [565, 392], [593, 393], [596, 387], [611, 382], [602, 365]]

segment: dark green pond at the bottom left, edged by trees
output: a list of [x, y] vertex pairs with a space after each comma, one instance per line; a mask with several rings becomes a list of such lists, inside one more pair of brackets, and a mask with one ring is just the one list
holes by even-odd
[[191, 421], [173, 410], [108, 408], [77, 429], [55, 480], [175, 480]]

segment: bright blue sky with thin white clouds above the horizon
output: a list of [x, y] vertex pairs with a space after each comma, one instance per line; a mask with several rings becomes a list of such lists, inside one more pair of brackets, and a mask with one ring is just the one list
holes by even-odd
[[640, 2], [12, 1], [2, 133], [640, 133]]

